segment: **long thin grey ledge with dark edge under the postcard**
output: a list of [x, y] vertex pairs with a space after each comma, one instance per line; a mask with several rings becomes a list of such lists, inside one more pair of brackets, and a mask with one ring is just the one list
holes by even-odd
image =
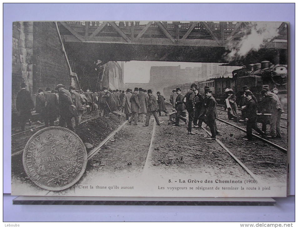
[[14, 205], [275, 206], [272, 198], [18, 196]]

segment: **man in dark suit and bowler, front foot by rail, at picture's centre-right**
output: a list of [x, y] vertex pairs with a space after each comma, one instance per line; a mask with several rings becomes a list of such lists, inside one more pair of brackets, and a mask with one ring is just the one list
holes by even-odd
[[212, 96], [212, 91], [210, 89], [205, 90], [205, 93], [207, 97], [205, 116], [206, 116], [207, 125], [210, 127], [210, 131], [211, 131], [211, 138], [208, 138], [208, 139], [215, 139], [216, 131], [215, 131], [214, 122], [215, 122], [215, 119], [218, 118], [216, 101], [215, 101], [215, 98]]

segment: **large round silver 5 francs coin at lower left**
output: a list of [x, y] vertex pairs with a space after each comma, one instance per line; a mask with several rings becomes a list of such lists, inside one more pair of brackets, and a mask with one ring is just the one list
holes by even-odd
[[47, 127], [27, 142], [23, 166], [37, 186], [61, 191], [82, 177], [87, 166], [87, 151], [73, 131], [58, 126]]

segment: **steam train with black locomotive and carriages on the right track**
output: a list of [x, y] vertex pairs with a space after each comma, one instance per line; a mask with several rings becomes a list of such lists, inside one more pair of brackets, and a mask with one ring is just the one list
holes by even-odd
[[[272, 91], [278, 89], [278, 96], [285, 112], [287, 112], [287, 84], [288, 69], [287, 65], [274, 65], [269, 61], [250, 64], [249, 67], [242, 67], [232, 72], [232, 77], [211, 78], [202, 82], [194, 82], [200, 87], [200, 92], [204, 92], [204, 87], [209, 86], [213, 96], [218, 104], [225, 102], [225, 89], [231, 88], [237, 97], [237, 104], [240, 103], [243, 94], [243, 86], [248, 86], [255, 97], [260, 101], [262, 99], [261, 90], [268, 88]], [[183, 84], [174, 87], [180, 87], [183, 93], [190, 89], [192, 83]], [[175, 89], [173, 87], [173, 89]], [[167, 88], [171, 90], [171, 87]]]

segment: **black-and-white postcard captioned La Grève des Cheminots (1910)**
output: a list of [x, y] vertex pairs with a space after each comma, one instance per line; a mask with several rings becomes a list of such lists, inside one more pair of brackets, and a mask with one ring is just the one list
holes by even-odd
[[13, 22], [12, 195], [286, 197], [289, 31]]

